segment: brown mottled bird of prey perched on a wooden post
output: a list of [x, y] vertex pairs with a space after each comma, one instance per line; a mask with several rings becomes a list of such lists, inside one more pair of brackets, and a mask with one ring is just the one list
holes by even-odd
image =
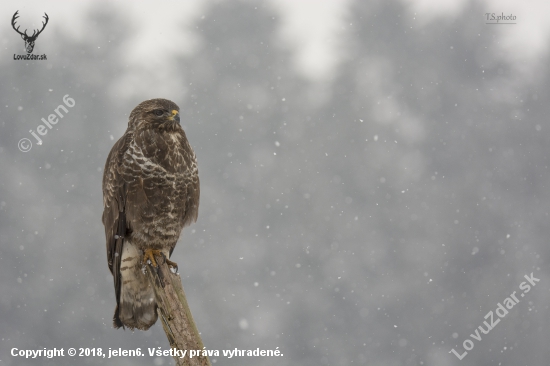
[[103, 173], [103, 225], [114, 278], [115, 328], [147, 330], [157, 321], [153, 288], [142, 267], [155, 254], [167, 263], [181, 230], [197, 220], [199, 173], [180, 126], [179, 107], [166, 99], [140, 103], [130, 113]]

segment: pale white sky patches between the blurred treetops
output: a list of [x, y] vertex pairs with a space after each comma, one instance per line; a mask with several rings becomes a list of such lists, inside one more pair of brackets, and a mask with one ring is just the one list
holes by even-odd
[[[467, 0], [403, 0], [410, 6], [411, 27], [422, 27], [436, 19], [452, 21], [464, 11]], [[127, 12], [128, 17], [140, 24], [131, 41], [126, 45], [125, 57], [130, 66], [158, 69], [165, 62], [166, 54], [186, 54], [198, 46], [190, 25], [193, 20], [203, 15], [207, 1], [105, 1], [106, 7]], [[258, 2], [259, 3], [259, 2]], [[271, 0], [274, 9], [280, 11], [282, 28], [281, 41], [287, 42], [294, 51], [295, 65], [305, 76], [312, 80], [330, 80], [335, 66], [345, 54], [341, 47], [346, 40], [346, 32], [351, 24], [347, 21], [350, 2], [348, 0]], [[480, 2], [481, 3], [481, 2]], [[544, 0], [485, 0], [483, 9], [491, 13], [514, 14], [517, 24], [513, 27], [499, 27], [496, 36], [501, 51], [517, 61], [517, 67], [525, 72], [532, 69], [533, 63], [547, 51], [547, 39], [550, 25], [545, 14], [550, 11], [550, 3]], [[12, 11], [19, 10], [18, 24], [22, 27], [38, 27], [38, 19], [46, 11], [50, 16], [49, 27], [59, 27], [76, 38], [89, 37], [90, 31], [81, 26], [83, 17], [97, 1], [57, 1], [40, 0], [4, 1], [4, 17], [11, 17]], [[170, 9], [170, 10], [169, 10]], [[177, 9], [174, 11], [173, 9]], [[473, 17], [484, 17], [484, 14], [472, 14]], [[182, 33], [182, 27], [189, 26]], [[3, 22], [4, 30], [9, 23]], [[187, 37], [186, 49], [174, 49], [170, 37], [175, 32]], [[4, 32], [2, 42], [7, 45], [13, 40], [11, 33]], [[152, 54], [151, 49], [157, 52]], [[160, 51], [160, 52], [158, 52]], [[156, 55], [156, 56], [155, 56]], [[146, 62], [144, 62], [146, 60]], [[532, 75], [531, 75], [532, 76]]]

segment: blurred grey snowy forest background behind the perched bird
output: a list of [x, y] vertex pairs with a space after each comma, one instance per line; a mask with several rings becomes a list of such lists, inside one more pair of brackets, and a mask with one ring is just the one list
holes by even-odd
[[[46, 5], [34, 53], [48, 60], [27, 62], [12, 56], [18, 7], [2, 6], [0, 365], [173, 364], [10, 356], [168, 348], [159, 323], [112, 328], [101, 224], [107, 154], [154, 97], [179, 104], [199, 161], [199, 220], [173, 258], [204, 344], [284, 354], [215, 364], [547, 364], [550, 60], [501, 47], [528, 12], [487, 25], [467, 2], [420, 22], [405, 2], [351, 1], [334, 71], [312, 78], [268, 3], [205, 3], [181, 37], [158, 36], [193, 47], [156, 71], [125, 61], [141, 25], [118, 8], [98, 3], [75, 37]], [[66, 94], [76, 105], [19, 151]], [[531, 272], [536, 287], [462, 361], [450, 353]]]

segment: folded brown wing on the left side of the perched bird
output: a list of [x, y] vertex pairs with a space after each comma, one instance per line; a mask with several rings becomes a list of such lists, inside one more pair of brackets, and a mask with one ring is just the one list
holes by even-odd
[[[132, 140], [127, 133], [113, 146], [103, 172], [103, 216], [105, 226], [105, 240], [107, 244], [107, 264], [113, 275], [117, 307], [120, 300], [120, 260], [124, 237], [128, 230], [126, 222], [126, 184], [121, 174], [121, 165], [124, 153]], [[115, 322], [120, 320], [115, 312]], [[120, 325], [122, 323], [120, 322]]]

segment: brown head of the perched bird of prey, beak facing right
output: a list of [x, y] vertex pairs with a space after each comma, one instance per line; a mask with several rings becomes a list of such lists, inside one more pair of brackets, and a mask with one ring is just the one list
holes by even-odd
[[128, 128], [158, 128], [174, 130], [180, 127], [180, 108], [168, 99], [149, 99], [138, 104], [130, 113]]

